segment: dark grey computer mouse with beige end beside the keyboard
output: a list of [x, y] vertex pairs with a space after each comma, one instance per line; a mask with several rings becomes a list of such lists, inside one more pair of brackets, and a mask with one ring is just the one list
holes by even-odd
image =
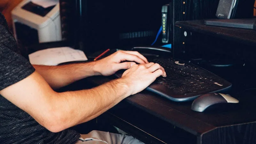
[[231, 97], [228, 94], [222, 93], [206, 93], [197, 97], [191, 106], [191, 109], [198, 112], [203, 112], [207, 108], [213, 105], [218, 106], [218, 104], [228, 104], [228, 103], [239, 103], [239, 100]]

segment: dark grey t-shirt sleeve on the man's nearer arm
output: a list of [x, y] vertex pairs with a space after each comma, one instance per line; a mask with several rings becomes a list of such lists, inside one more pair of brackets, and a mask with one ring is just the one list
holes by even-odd
[[34, 71], [27, 59], [0, 43], [0, 90], [19, 82]]

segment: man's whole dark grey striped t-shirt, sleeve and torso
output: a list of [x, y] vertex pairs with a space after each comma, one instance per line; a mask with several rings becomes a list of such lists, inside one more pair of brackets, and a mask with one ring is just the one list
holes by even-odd
[[[20, 55], [16, 40], [0, 12], [0, 90], [21, 81], [34, 71], [29, 61]], [[80, 134], [71, 129], [50, 132], [0, 95], [1, 144], [72, 144], [79, 137]]]

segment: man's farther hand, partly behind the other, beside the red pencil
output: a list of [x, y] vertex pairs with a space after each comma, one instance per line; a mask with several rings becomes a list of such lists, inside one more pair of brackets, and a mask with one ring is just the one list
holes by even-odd
[[95, 61], [94, 70], [98, 75], [110, 76], [120, 69], [131, 68], [136, 64], [135, 62], [146, 64], [148, 60], [139, 52], [117, 51], [104, 59]]

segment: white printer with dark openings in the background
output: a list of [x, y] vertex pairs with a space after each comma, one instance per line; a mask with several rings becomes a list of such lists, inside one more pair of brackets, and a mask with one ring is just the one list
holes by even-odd
[[23, 0], [12, 10], [13, 32], [22, 45], [61, 40], [59, 3], [42, 7]]

